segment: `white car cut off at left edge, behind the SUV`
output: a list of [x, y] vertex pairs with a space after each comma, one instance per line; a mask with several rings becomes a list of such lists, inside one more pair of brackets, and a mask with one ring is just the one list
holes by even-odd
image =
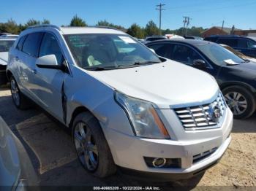
[[[6, 36], [6, 35], [3, 35]], [[12, 44], [15, 42], [16, 37], [2, 37], [0, 36], [0, 85], [7, 82], [7, 76], [5, 73], [8, 61], [8, 52]]]

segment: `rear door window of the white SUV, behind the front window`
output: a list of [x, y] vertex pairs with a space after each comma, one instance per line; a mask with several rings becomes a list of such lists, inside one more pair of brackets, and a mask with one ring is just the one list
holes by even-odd
[[42, 33], [29, 34], [23, 44], [22, 51], [28, 55], [37, 57]]

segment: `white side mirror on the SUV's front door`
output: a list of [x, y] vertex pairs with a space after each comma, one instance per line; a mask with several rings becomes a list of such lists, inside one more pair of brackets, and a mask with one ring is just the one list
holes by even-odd
[[44, 55], [37, 58], [36, 65], [42, 69], [61, 69], [63, 66], [59, 65], [55, 55]]

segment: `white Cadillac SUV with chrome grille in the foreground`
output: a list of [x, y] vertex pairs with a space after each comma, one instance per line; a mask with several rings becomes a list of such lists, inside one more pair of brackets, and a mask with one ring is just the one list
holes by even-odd
[[217, 163], [230, 143], [233, 115], [215, 79], [122, 31], [31, 27], [10, 50], [7, 76], [18, 108], [30, 98], [72, 128], [95, 176], [119, 166], [184, 179]]

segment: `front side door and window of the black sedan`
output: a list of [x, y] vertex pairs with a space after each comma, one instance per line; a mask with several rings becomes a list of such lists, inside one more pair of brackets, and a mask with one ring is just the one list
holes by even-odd
[[187, 44], [174, 44], [170, 52], [170, 59], [187, 66], [192, 66], [196, 69], [206, 71], [214, 77], [217, 77], [217, 71], [206, 61], [203, 55], [200, 54], [194, 47]]

